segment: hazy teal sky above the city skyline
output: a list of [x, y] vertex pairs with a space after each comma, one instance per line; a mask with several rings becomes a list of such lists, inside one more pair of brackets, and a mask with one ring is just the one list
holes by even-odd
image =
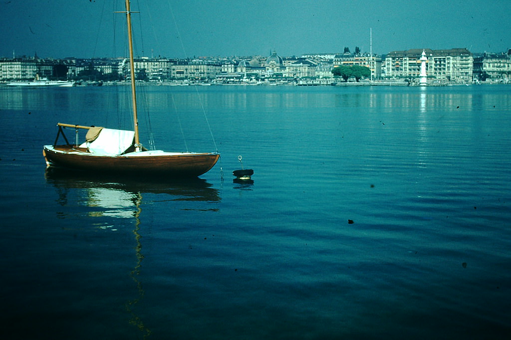
[[[125, 56], [124, 0], [0, 0], [0, 57]], [[132, 0], [138, 57], [511, 48], [509, 0]], [[372, 34], [370, 34], [372, 32]], [[116, 42], [114, 42], [116, 41]]]

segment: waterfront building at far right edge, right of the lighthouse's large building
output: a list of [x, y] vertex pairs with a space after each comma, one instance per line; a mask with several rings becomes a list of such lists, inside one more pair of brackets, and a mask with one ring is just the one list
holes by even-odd
[[474, 80], [487, 79], [509, 82], [511, 78], [511, 49], [504, 53], [483, 53], [474, 57]]

